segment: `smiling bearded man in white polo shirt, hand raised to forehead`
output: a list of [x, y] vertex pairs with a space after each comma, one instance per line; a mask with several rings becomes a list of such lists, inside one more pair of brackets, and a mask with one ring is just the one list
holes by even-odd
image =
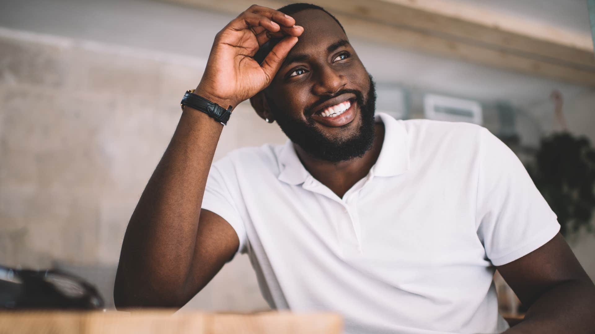
[[[347, 333], [593, 332], [593, 283], [513, 153], [476, 125], [374, 116], [322, 8], [248, 8], [193, 94], [130, 219], [118, 307], [181, 307], [248, 253], [271, 307], [337, 311]], [[224, 109], [246, 99], [290, 141], [211, 166]], [[530, 307], [511, 329], [496, 267]]]

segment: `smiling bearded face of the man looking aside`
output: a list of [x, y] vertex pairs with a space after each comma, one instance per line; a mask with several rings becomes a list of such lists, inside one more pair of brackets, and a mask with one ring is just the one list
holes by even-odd
[[374, 82], [328, 14], [292, 15], [304, 27], [265, 90], [281, 130], [310, 155], [331, 162], [363, 156], [374, 140]]

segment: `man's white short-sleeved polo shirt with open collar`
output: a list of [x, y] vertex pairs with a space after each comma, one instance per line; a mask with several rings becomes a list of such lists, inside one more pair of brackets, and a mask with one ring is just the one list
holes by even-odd
[[233, 226], [273, 308], [336, 311], [352, 334], [503, 332], [494, 266], [551, 240], [556, 215], [485, 128], [376, 119], [380, 156], [343, 198], [287, 141], [214, 163], [202, 207]]

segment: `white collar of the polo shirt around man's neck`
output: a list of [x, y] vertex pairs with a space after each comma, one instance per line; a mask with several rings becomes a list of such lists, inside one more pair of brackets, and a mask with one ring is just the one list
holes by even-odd
[[[409, 149], [407, 144], [407, 130], [402, 121], [397, 121], [392, 116], [378, 112], [376, 121], [384, 123], [384, 141], [380, 156], [372, 166], [371, 173], [377, 177], [392, 177], [403, 174], [409, 169]], [[302, 165], [293, 143], [287, 140], [278, 153], [280, 181], [297, 185], [308, 179], [310, 173]]]

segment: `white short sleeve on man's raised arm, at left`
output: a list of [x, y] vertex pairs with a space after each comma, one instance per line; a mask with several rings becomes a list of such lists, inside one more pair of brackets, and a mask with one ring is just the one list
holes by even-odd
[[[236, 231], [240, 240], [237, 253], [246, 253], [246, 228], [237, 207], [240, 197], [239, 187], [231, 162], [220, 160], [211, 166], [206, 179], [205, 195], [202, 198], [202, 209], [217, 213]], [[223, 170], [222, 170], [223, 169]]]

